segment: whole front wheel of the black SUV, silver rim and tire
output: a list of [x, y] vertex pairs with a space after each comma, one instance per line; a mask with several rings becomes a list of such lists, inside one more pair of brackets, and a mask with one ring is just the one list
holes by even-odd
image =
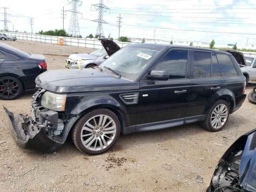
[[96, 109], [76, 122], [72, 140], [78, 150], [91, 155], [102, 154], [110, 149], [120, 135], [120, 122], [108, 109]]

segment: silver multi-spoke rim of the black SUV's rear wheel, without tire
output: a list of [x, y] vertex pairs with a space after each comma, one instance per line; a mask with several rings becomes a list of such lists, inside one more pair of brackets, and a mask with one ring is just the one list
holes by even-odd
[[221, 128], [228, 118], [228, 107], [224, 104], [219, 104], [212, 112], [211, 124], [214, 129]]

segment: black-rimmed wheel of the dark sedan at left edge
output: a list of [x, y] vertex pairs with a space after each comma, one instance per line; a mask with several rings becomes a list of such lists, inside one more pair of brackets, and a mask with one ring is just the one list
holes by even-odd
[[13, 76], [0, 77], [0, 99], [14, 100], [20, 97], [22, 92], [23, 85], [18, 78]]

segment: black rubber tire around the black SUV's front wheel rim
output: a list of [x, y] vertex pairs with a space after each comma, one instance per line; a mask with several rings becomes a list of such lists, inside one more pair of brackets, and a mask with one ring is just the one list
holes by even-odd
[[[110, 118], [112, 118], [112, 120], [114, 121], [114, 123], [116, 125], [116, 134], [115, 134], [112, 142], [106, 148], [104, 148], [102, 150], [90, 150], [90, 149], [86, 148], [84, 146], [84, 144], [82, 143], [81, 134], [84, 133], [84, 132], [82, 132], [82, 128], [84, 127], [84, 125], [86, 124], [86, 122], [88, 120], [90, 120], [91, 118], [93, 118], [97, 115], [106, 115], [106, 116], [109, 116]], [[82, 116], [76, 122], [76, 124], [74, 125], [73, 130], [72, 130], [72, 140], [73, 140], [74, 145], [76, 146], [76, 148], [78, 148], [78, 150], [80, 150], [81, 152], [84, 152], [84, 153], [90, 154], [90, 155], [98, 155], [98, 154], [102, 154], [102, 153], [106, 152], [107, 150], [109, 150], [116, 143], [116, 140], [118, 139], [118, 137], [120, 135], [120, 130], [121, 130], [120, 129], [120, 122], [119, 122], [118, 117], [116, 116], [116, 114], [114, 114], [114, 112], [112, 112], [111, 110], [108, 110], [108, 109], [105, 109], [105, 108], [100, 108], [100, 109], [96, 109], [96, 110], [92, 110], [92, 111], [88, 112], [87, 114]], [[98, 130], [96, 130], [96, 132], [98, 132]], [[101, 140], [101, 137], [104, 137], [104, 136], [103, 135], [99, 136], [98, 139]], [[96, 140], [96, 144], [98, 144], [97, 142], [98, 142], [98, 140]], [[95, 144], [95, 142], [92, 142], [92, 144]]]

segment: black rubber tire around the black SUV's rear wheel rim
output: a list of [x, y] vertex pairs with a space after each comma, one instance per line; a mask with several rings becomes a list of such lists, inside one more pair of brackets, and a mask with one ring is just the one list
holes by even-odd
[[[224, 104], [227, 109], [228, 109], [228, 114], [227, 114], [227, 118], [226, 121], [224, 122], [224, 124], [220, 127], [220, 128], [214, 128], [212, 126], [211, 123], [211, 118], [212, 118], [212, 113], [214, 111], [214, 109], [219, 106], [220, 104]], [[216, 132], [221, 130], [222, 128], [224, 128], [224, 126], [226, 125], [226, 123], [228, 122], [228, 118], [229, 118], [229, 113], [230, 113], [230, 106], [229, 104], [225, 101], [225, 100], [218, 100], [217, 102], [215, 102], [212, 107], [208, 110], [208, 113], [206, 115], [206, 118], [204, 121], [199, 122], [200, 126], [202, 126], [202, 128], [210, 131], [210, 132]]]

